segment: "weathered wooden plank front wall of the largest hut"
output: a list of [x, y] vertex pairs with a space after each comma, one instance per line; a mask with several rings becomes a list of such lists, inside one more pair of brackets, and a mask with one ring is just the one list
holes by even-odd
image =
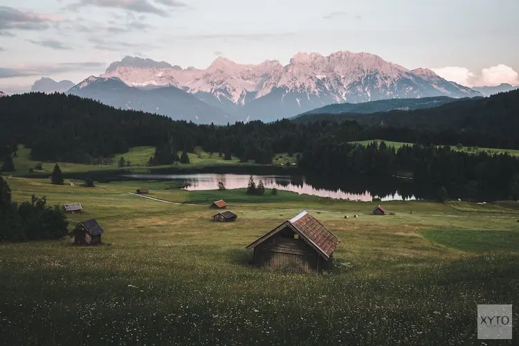
[[[321, 259], [303, 239], [287, 237], [277, 233], [254, 249], [256, 266], [270, 268], [296, 268], [308, 273], [320, 271]], [[292, 233], [293, 235], [293, 233]]]

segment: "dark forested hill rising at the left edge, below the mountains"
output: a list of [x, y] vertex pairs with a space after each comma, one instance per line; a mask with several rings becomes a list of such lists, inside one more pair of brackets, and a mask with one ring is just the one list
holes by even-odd
[[197, 141], [197, 125], [141, 111], [122, 111], [93, 100], [55, 93], [0, 99], [0, 145], [24, 144], [35, 160], [84, 162], [168, 136], [179, 147]]

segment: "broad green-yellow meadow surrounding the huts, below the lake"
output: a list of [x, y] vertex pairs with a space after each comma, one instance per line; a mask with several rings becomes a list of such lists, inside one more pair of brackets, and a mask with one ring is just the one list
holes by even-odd
[[[8, 183], [16, 201], [35, 193], [82, 203], [69, 228], [95, 217], [105, 244], [0, 244], [3, 345], [482, 345], [476, 304], [519, 302], [512, 203], [394, 201], [383, 206], [395, 215], [379, 217], [370, 215], [375, 203], [291, 192], [248, 197], [145, 183], [152, 197], [193, 203], [174, 204], [127, 193], [143, 182]], [[235, 223], [210, 221], [208, 204], [219, 198]], [[334, 268], [251, 267], [244, 247], [301, 210], [342, 240]]]

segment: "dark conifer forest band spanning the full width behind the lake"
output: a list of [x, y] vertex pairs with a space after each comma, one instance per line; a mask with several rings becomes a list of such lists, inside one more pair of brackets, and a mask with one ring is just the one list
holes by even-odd
[[[389, 121], [392, 125], [388, 121], [380, 125], [316, 118], [315, 122], [254, 121], [215, 126], [123, 111], [71, 95], [29, 93], [0, 99], [0, 154], [6, 156], [15, 145], [23, 144], [31, 148], [33, 160], [90, 163], [95, 158], [127, 152], [131, 147], [151, 145], [156, 147], [156, 153], [150, 165], [163, 165], [181, 161], [177, 152], [192, 152], [195, 146], [222, 157], [233, 154], [240, 161], [260, 164], [271, 163], [275, 153], [288, 152], [298, 157], [304, 172], [323, 176], [412, 172], [415, 181], [421, 183], [498, 189], [507, 197], [519, 198], [518, 158], [484, 152], [469, 154], [442, 146], [463, 143], [516, 149], [518, 109], [519, 91], [511, 91], [437, 109], [410, 111], [406, 121]], [[392, 113], [386, 113], [385, 119]], [[397, 150], [385, 143], [351, 143], [376, 138], [415, 144]]]

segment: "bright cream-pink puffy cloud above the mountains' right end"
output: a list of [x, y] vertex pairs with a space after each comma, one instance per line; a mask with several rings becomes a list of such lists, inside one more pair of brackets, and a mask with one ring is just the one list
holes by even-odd
[[519, 73], [507, 65], [486, 67], [480, 73], [473, 73], [466, 67], [448, 66], [432, 69], [446, 80], [465, 86], [496, 86], [502, 83], [519, 84]]

